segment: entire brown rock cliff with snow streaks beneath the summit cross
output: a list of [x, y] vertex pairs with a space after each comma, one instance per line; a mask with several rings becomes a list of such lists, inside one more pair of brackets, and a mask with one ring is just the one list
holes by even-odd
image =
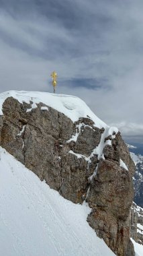
[[[90, 117], [73, 123], [40, 103], [9, 97], [0, 117], [1, 146], [66, 199], [89, 203], [88, 222], [117, 255], [134, 255], [130, 206], [134, 163], [120, 133]], [[124, 165], [121, 164], [124, 162]], [[128, 168], [127, 168], [128, 167]]]

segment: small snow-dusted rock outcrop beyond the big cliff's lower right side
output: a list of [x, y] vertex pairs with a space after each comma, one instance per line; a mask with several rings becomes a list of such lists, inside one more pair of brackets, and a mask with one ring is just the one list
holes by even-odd
[[143, 245], [143, 209], [132, 204], [131, 207], [131, 236], [140, 245]]

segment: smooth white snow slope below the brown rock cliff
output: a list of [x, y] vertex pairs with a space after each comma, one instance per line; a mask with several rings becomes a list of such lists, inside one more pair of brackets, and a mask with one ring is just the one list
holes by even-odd
[[50, 189], [0, 148], [1, 256], [113, 256], [87, 223], [87, 204]]

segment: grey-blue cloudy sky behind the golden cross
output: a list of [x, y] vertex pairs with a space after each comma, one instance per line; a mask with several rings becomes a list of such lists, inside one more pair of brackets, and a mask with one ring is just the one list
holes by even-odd
[[124, 135], [143, 135], [142, 0], [0, 0], [0, 92], [79, 96]]

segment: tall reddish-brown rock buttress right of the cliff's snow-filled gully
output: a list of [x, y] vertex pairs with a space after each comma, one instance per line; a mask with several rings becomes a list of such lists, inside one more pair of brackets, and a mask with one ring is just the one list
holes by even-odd
[[[129, 239], [134, 163], [120, 133], [103, 152], [105, 160], [99, 160], [97, 175], [91, 181], [87, 197], [89, 205], [93, 205], [88, 221], [117, 255], [134, 255]], [[128, 170], [120, 166], [120, 159]]]

